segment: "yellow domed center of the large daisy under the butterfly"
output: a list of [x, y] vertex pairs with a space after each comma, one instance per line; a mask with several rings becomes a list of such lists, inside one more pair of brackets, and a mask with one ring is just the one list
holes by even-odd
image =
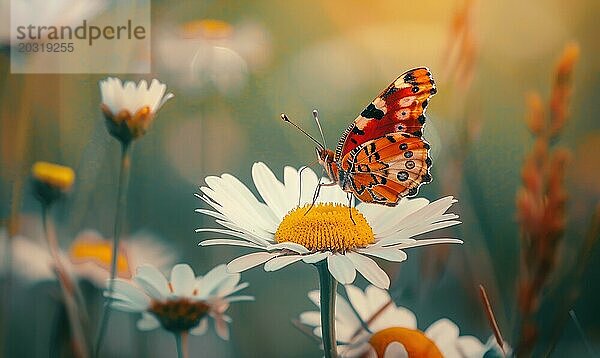
[[275, 240], [295, 242], [313, 252], [345, 252], [374, 243], [375, 236], [365, 217], [355, 208], [315, 204], [312, 208], [305, 205], [290, 211], [279, 224]]

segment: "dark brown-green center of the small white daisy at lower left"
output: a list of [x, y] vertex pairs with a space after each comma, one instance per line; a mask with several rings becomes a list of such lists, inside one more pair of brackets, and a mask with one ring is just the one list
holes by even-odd
[[179, 298], [153, 301], [148, 309], [171, 332], [184, 332], [196, 327], [208, 313], [210, 306], [203, 301]]

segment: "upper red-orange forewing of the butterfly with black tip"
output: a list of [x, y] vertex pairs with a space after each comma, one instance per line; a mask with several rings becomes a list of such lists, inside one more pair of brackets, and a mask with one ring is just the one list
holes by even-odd
[[358, 146], [395, 132], [423, 135], [425, 109], [437, 92], [426, 67], [406, 71], [377, 96], [350, 124], [338, 142], [335, 160], [340, 162]]

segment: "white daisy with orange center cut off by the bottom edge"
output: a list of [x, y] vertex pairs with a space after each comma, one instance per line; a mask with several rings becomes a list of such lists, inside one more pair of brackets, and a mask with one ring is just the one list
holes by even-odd
[[[452, 321], [442, 318], [424, 332], [417, 328], [417, 318], [409, 309], [396, 306], [389, 293], [369, 285], [363, 292], [348, 285], [350, 302], [338, 295], [335, 313], [336, 338], [341, 357], [483, 357], [489, 347], [473, 336], [461, 336]], [[319, 291], [308, 294], [319, 306]], [[321, 315], [308, 311], [300, 322], [314, 327], [321, 336]]]

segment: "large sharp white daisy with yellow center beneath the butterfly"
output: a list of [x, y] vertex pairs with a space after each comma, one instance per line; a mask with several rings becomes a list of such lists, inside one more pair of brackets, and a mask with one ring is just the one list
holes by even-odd
[[422, 198], [403, 199], [394, 208], [360, 203], [350, 209], [346, 193], [338, 186], [323, 187], [318, 204], [309, 210], [319, 179], [310, 169], [301, 175], [302, 180], [296, 169], [286, 167], [280, 182], [264, 163], [255, 163], [252, 177], [264, 202], [232, 175], [207, 177], [208, 186], [201, 187], [197, 196], [212, 210], [196, 211], [214, 217], [222, 227], [196, 231], [234, 238], [204, 240], [200, 245], [260, 250], [231, 261], [231, 272], [263, 263], [266, 271], [275, 271], [298, 261], [314, 264], [327, 260], [329, 272], [342, 284], [352, 283], [358, 271], [374, 285], [387, 288], [388, 275], [369, 256], [401, 262], [407, 258], [407, 248], [462, 243], [447, 238], [413, 239], [460, 223], [457, 215], [446, 213], [456, 202], [452, 197], [432, 203]]

